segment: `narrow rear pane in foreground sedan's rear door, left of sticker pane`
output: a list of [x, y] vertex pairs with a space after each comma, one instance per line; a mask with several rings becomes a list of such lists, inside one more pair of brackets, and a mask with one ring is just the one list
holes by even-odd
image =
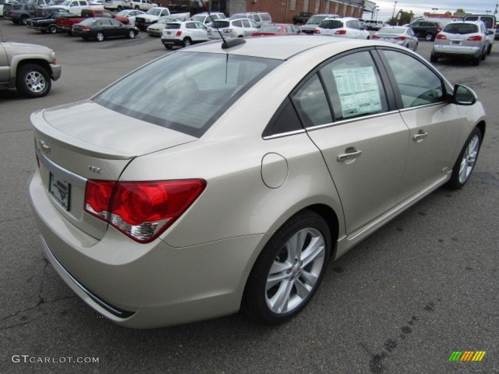
[[317, 74], [313, 75], [293, 96], [293, 102], [305, 127], [333, 121], [326, 94]]

